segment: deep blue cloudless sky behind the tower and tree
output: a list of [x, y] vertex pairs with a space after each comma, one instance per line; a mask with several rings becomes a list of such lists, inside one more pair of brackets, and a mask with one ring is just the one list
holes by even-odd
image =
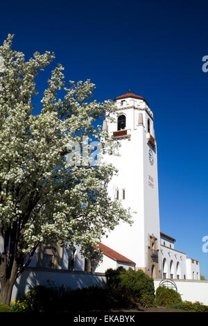
[[13, 47], [26, 57], [55, 52], [38, 78], [40, 94], [60, 62], [67, 80], [96, 84], [98, 101], [128, 89], [146, 98], [155, 117], [161, 230], [208, 279], [207, 15], [206, 1], [4, 1], [0, 40], [14, 33]]

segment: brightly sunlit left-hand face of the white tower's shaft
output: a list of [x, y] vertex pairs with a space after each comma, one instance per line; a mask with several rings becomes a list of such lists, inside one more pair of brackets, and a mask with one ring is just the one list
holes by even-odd
[[[130, 109], [132, 110], [132, 109]], [[127, 119], [128, 121], [128, 119]], [[143, 127], [137, 131], [136, 138], [142, 132]], [[115, 129], [116, 130], [116, 129]], [[141, 134], [142, 135], [142, 134]], [[142, 137], [142, 136], [141, 136]], [[118, 177], [112, 178], [108, 187], [109, 194], [112, 198], [115, 196], [116, 189], [125, 189], [125, 200], [121, 199], [124, 207], [130, 207], [132, 214], [133, 225], [120, 222], [112, 232], [108, 234], [107, 238], [103, 238], [102, 242], [116, 250], [121, 255], [128, 257], [137, 263], [137, 266], [144, 266], [145, 255], [144, 250], [144, 180], [143, 175], [139, 171], [143, 171], [143, 146], [141, 141], [137, 144], [138, 151], [135, 151], [134, 135], [131, 134], [131, 140], [122, 139], [122, 147], [119, 148], [119, 153], [122, 157], [106, 156], [107, 162], [112, 162], [116, 169], [119, 170]], [[125, 155], [124, 155], [125, 154]], [[135, 173], [137, 171], [137, 173]], [[121, 195], [120, 195], [121, 198]]]

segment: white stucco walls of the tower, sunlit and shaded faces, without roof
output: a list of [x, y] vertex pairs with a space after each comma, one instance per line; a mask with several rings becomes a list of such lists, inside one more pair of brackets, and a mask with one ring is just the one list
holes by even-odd
[[[125, 200], [121, 199], [121, 203], [124, 207], [130, 207], [134, 223], [132, 226], [119, 223], [102, 242], [135, 261], [137, 267], [144, 268], [147, 266], [148, 234], [153, 234], [158, 239], [160, 250], [157, 148], [153, 150], [154, 164], [151, 165], [146, 132], [148, 119], [153, 130], [153, 114], [144, 101], [127, 98], [125, 102], [121, 106], [121, 100], [118, 100], [116, 105], [118, 114], [125, 114], [130, 140], [120, 140], [121, 156], [105, 155], [104, 160], [111, 162], [119, 170], [118, 176], [110, 182], [109, 194], [114, 199], [116, 189], [119, 189], [121, 198], [121, 191], [125, 189]], [[139, 113], [143, 114], [144, 126], [138, 126]], [[116, 122], [108, 123], [108, 132], [111, 135], [116, 130]], [[150, 180], [153, 180], [152, 187]]]

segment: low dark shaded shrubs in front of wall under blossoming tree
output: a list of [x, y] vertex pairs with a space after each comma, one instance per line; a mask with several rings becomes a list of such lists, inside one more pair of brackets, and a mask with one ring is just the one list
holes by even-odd
[[89, 286], [83, 289], [33, 287], [19, 300], [12, 302], [16, 312], [70, 312], [127, 308], [131, 300], [116, 289]]

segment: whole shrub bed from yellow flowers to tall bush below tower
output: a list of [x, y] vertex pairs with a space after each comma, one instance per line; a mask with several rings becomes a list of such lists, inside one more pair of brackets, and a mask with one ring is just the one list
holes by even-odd
[[70, 312], [133, 307], [140, 303], [152, 307], [155, 300], [153, 279], [143, 271], [106, 271], [107, 287], [89, 286], [83, 289], [65, 289], [34, 286], [28, 293], [13, 302], [13, 311], [26, 312]]

